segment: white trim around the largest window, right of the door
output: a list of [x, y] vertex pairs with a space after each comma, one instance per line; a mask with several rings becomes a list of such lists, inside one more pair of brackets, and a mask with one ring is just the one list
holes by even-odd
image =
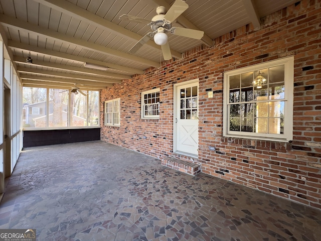
[[[284, 108], [284, 133], [283, 134], [262, 134], [246, 132], [228, 132], [228, 102], [229, 102], [229, 76], [246, 73], [249, 71], [258, 71], [264, 68], [270, 68], [284, 64], [284, 85], [285, 85], [285, 108]], [[223, 87], [223, 136], [234, 138], [259, 139], [270, 141], [288, 142], [293, 138], [293, 81], [294, 81], [294, 57], [286, 57], [277, 60], [267, 61], [261, 64], [249, 67], [239, 68], [224, 72]]]

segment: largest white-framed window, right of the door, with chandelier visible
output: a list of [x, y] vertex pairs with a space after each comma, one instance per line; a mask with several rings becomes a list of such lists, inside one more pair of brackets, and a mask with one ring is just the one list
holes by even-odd
[[223, 136], [292, 140], [293, 72], [294, 57], [225, 72]]

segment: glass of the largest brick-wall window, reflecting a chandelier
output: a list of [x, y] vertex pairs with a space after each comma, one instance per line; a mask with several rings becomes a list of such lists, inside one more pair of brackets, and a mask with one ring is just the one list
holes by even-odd
[[283, 134], [284, 65], [260, 69], [260, 72], [267, 80], [262, 88], [253, 86], [257, 71], [229, 76], [229, 131]]

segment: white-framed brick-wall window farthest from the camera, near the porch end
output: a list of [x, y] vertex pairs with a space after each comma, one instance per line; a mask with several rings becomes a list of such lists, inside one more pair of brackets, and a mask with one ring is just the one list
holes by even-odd
[[120, 126], [120, 98], [105, 101], [105, 125]]

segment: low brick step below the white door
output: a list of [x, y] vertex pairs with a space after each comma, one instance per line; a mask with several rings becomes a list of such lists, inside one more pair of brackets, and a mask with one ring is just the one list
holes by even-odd
[[178, 170], [180, 172], [184, 172], [184, 173], [193, 175], [193, 176], [195, 176], [196, 174], [201, 172], [201, 165], [193, 163], [193, 162], [179, 160], [174, 157], [164, 158], [162, 160], [162, 165], [167, 166], [169, 168], [173, 168], [173, 169]]

